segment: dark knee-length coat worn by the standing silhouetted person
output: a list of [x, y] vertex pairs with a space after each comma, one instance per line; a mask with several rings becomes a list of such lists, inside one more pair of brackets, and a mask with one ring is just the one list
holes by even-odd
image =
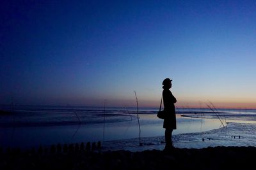
[[163, 90], [163, 100], [164, 100], [164, 112], [166, 113], [166, 118], [164, 118], [164, 128], [177, 129], [176, 127], [176, 113], [174, 103], [177, 102], [176, 98], [172, 95], [169, 89]]

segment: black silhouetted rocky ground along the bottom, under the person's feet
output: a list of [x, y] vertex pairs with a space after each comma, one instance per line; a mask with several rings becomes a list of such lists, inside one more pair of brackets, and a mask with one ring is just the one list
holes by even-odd
[[0, 151], [0, 169], [255, 169], [256, 148], [175, 148], [170, 152], [108, 151], [86, 146]]

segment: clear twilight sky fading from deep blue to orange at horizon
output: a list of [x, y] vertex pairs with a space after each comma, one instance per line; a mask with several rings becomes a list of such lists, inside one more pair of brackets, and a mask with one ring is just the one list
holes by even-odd
[[1, 1], [0, 104], [256, 108], [255, 1]]

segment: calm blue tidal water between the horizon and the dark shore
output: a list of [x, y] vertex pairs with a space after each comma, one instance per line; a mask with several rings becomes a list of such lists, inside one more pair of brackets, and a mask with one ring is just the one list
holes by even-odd
[[[57, 143], [102, 143], [135, 138], [163, 138], [158, 108], [92, 108], [71, 106], [1, 106], [0, 146], [31, 148]], [[206, 132], [228, 122], [255, 123], [256, 110], [177, 108], [173, 135]], [[139, 118], [138, 118], [139, 117]], [[139, 122], [138, 122], [139, 120]], [[140, 126], [139, 126], [140, 123]]]

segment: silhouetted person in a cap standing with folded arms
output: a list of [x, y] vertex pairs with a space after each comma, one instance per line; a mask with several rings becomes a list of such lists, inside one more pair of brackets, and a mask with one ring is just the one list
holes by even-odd
[[163, 128], [165, 128], [165, 148], [164, 150], [170, 150], [173, 148], [172, 143], [172, 131], [176, 129], [176, 114], [174, 103], [177, 102], [176, 98], [169, 90], [172, 87], [172, 80], [166, 78], [163, 81], [163, 100], [164, 100], [164, 112], [166, 117], [164, 118]]

